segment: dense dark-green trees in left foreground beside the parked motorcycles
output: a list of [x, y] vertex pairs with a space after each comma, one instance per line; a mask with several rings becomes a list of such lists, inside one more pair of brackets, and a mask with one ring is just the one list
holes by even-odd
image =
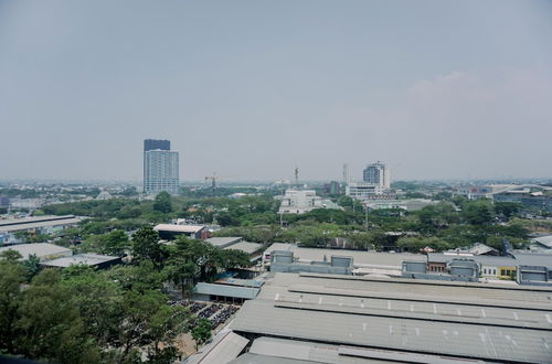
[[150, 227], [139, 229], [125, 243], [132, 264], [102, 271], [41, 270], [35, 257], [21, 261], [18, 253], [3, 253], [0, 352], [59, 363], [137, 363], [144, 356], [172, 363], [179, 356], [177, 336], [199, 325], [197, 340], [203, 340], [205, 328], [188, 310], [168, 304], [170, 283], [187, 296], [198, 280], [213, 280], [250, 260], [202, 240], [158, 240]]

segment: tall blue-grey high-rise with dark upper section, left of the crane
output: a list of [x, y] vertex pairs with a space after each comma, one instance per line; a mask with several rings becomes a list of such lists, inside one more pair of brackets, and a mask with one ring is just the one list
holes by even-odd
[[179, 191], [179, 156], [169, 140], [144, 140], [144, 192], [158, 194]]

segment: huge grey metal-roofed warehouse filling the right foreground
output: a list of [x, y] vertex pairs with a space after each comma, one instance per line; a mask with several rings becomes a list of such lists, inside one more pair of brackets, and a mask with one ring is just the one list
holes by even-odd
[[550, 297], [544, 287], [278, 272], [230, 324], [251, 341], [232, 363], [546, 363]]

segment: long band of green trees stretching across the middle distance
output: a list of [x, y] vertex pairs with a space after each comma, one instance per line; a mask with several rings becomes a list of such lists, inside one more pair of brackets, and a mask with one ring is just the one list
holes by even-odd
[[[350, 247], [359, 249], [396, 247], [411, 251], [417, 251], [423, 245], [443, 250], [474, 243], [500, 248], [505, 238], [517, 247], [527, 243], [528, 231], [519, 221], [512, 221], [520, 211], [518, 204], [450, 199], [449, 195], [444, 199], [447, 201], [417, 212], [380, 210], [367, 213], [360, 202], [340, 196], [336, 201], [343, 206], [342, 211], [317, 208], [301, 215], [279, 215], [279, 202], [272, 194], [229, 199], [171, 197], [160, 193], [155, 201], [89, 201], [46, 206], [44, 212], [91, 216], [77, 229], [79, 236], [64, 236], [61, 242], [68, 244], [79, 238], [85, 250], [97, 247], [98, 240], [113, 239], [106, 235], [113, 231], [129, 232], [173, 218], [217, 223], [225, 227], [215, 234], [219, 236], [243, 236], [266, 244], [298, 243], [310, 247], [329, 246], [336, 238], [346, 238]], [[389, 232], [402, 232], [405, 236], [397, 240], [400, 236], [390, 236]], [[71, 229], [68, 233], [76, 234]]]

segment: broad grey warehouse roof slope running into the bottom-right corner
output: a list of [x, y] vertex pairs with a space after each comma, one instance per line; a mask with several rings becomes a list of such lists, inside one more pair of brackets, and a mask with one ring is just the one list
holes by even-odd
[[282, 309], [264, 300], [245, 302], [230, 328], [236, 332], [482, 360], [545, 363], [552, 357], [550, 331]]

